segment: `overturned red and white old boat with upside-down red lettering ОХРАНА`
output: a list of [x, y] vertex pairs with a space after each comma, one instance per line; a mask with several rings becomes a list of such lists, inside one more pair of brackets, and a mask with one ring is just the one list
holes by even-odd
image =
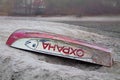
[[6, 42], [19, 49], [60, 56], [104, 66], [112, 66], [111, 50], [68, 36], [37, 30], [20, 29]]

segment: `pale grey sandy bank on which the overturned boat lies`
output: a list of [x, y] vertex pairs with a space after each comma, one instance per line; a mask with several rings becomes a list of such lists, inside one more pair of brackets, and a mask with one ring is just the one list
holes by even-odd
[[[87, 28], [35, 18], [0, 17], [0, 80], [119, 80], [120, 39]], [[112, 67], [58, 58], [11, 48], [5, 44], [17, 29], [37, 29], [107, 46], [115, 54]], [[82, 35], [81, 35], [82, 34]]]

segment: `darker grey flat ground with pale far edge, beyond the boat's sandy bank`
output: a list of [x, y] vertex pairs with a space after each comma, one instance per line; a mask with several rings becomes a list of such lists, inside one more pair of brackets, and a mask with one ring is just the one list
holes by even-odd
[[32, 20], [67, 23], [81, 26], [82, 29], [89, 32], [98, 33], [110, 37], [120, 38], [120, 16], [95, 16], [95, 17], [76, 17], [76, 16], [57, 16], [57, 17], [16, 17], [2, 16], [4, 19], [12, 20]]

